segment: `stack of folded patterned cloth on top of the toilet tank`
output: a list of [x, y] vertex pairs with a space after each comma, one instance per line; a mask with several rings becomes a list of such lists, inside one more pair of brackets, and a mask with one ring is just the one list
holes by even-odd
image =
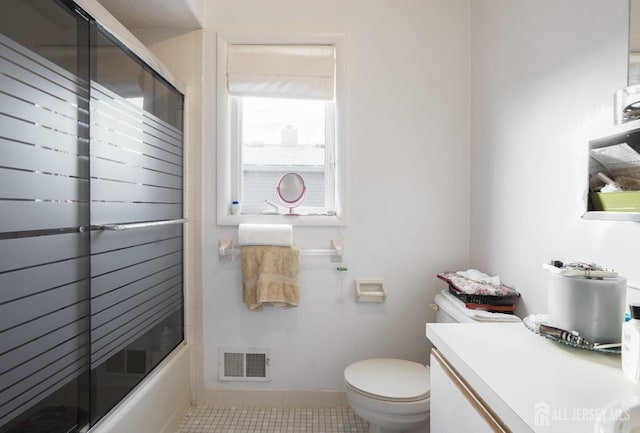
[[476, 269], [442, 272], [438, 278], [449, 284], [449, 292], [465, 303], [467, 308], [512, 313], [520, 293]]

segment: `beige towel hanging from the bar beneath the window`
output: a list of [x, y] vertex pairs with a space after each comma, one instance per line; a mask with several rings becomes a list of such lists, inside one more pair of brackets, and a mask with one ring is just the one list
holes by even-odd
[[266, 245], [240, 248], [244, 302], [249, 310], [260, 311], [265, 305], [280, 308], [298, 306], [298, 255], [295, 247]]

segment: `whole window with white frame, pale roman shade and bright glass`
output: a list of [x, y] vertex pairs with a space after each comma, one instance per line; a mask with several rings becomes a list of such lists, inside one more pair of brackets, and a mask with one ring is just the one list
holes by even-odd
[[278, 222], [290, 209], [276, 186], [294, 172], [306, 195], [287, 222], [341, 225], [340, 38], [247, 40], [218, 44], [218, 223]]

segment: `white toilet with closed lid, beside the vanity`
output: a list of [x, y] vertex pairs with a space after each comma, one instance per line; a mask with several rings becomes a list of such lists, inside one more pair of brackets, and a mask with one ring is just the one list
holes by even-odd
[[[443, 290], [434, 298], [436, 322], [519, 322], [516, 316], [472, 310]], [[356, 361], [344, 369], [347, 401], [369, 433], [429, 433], [429, 366], [393, 358]]]

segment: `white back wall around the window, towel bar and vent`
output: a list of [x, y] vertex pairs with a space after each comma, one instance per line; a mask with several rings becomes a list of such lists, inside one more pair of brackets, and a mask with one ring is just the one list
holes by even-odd
[[[427, 362], [425, 322], [437, 272], [466, 266], [469, 244], [468, 6], [466, 0], [215, 0], [205, 19], [205, 393], [339, 390], [356, 359]], [[345, 241], [347, 272], [303, 257], [301, 305], [249, 312], [240, 264], [218, 261], [216, 32], [339, 32], [347, 40], [348, 224], [295, 228], [303, 248]], [[383, 304], [356, 304], [356, 278], [383, 278]], [[271, 382], [218, 381], [220, 347], [269, 348]]]

